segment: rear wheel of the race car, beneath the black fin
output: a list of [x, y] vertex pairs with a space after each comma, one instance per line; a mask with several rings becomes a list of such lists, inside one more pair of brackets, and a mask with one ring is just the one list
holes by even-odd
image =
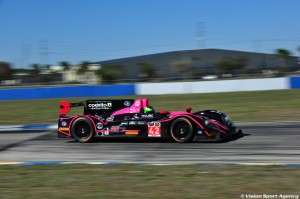
[[71, 133], [78, 142], [86, 143], [94, 139], [95, 131], [92, 122], [88, 118], [79, 117], [73, 122]]

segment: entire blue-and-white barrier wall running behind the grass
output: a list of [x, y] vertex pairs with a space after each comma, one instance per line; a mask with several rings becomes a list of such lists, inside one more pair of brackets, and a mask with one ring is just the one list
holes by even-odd
[[0, 100], [299, 89], [300, 77], [0, 89]]

